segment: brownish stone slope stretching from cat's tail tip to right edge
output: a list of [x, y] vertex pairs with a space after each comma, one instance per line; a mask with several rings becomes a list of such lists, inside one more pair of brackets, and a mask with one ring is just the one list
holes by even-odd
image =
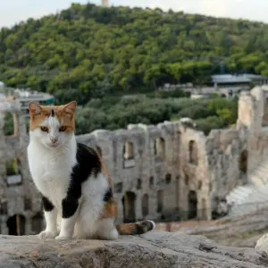
[[221, 245], [255, 247], [256, 241], [268, 231], [268, 209], [216, 221], [156, 223], [156, 230], [202, 235]]

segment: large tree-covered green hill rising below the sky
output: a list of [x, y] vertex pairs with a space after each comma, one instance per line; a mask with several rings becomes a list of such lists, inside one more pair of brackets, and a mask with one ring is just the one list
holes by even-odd
[[268, 25], [203, 15], [72, 4], [0, 31], [0, 80], [59, 101], [205, 83], [220, 71], [268, 75]]

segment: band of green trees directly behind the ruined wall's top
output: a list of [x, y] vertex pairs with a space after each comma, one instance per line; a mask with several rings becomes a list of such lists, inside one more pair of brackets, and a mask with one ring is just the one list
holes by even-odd
[[[226, 128], [235, 123], [237, 112], [237, 99], [105, 97], [92, 99], [84, 107], [78, 107], [76, 134], [85, 134], [96, 129], [117, 130], [126, 128], [130, 123], [157, 124], [166, 120], [177, 121], [182, 117], [193, 118], [197, 122], [197, 129], [208, 134], [212, 129]], [[11, 113], [6, 114], [4, 133], [13, 135]]]

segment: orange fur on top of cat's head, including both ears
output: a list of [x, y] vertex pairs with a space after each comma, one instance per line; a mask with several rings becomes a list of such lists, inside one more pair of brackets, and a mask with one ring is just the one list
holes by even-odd
[[38, 105], [37, 103], [29, 104], [29, 129], [38, 129], [42, 122], [46, 120], [47, 117], [52, 116], [52, 110], [54, 111], [54, 116], [60, 121], [61, 125], [66, 127], [65, 132], [71, 132], [75, 129], [74, 123], [74, 112], [76, 109], [76, 101], [72, 101], [67, 105], [53, 105], [45, 106]]

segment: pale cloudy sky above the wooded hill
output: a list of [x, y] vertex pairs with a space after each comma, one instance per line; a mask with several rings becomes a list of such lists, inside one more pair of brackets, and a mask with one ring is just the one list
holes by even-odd
[[[202, 13], [217, 17], [244, 18], [268, 22], [268, 0], [109, 0], [113, 5], [160, 7], [163, 10]], [[86, 0], [0, 0], [0, 27], [15, 22], [38, 18], [67, 8], [72, 2], [85, 4]], [[100, 4], [101, 0], [89, 1]]]

